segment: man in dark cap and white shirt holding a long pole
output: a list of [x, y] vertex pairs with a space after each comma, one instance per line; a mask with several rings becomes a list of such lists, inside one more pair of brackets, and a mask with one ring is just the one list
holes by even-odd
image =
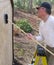
[[[41, 19], [39, 27], [39, 36], [36, 40], [45, 41], [49, 50], [54, 53], [54, 17], [51, 15], [51, 5], [48, 2], [43, 2], [38, 10], [38, 17]], [[28, 37], [33, 37], [31, 34]], [[54, 56], [47, 52], [48, 65], [54, 65]]]

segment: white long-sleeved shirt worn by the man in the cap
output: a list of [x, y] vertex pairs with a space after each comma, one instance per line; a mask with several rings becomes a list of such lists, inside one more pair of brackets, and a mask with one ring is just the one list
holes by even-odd
[[54, 17], [52, 15], [48, 17], [46, 22], [40, 22], [39, 34], [36, 36], [38, 41], [44, 40], [46, 45], [54, 47]]

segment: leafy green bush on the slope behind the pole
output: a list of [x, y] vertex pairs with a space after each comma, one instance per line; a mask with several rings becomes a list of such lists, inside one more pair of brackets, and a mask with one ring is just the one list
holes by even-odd
[[19, 21], [16, 22], [16, 25], [19, 26], [25, 32], [31, 33], [33, 29], [28, 22], [29, 21], [26, 19], [20, 19]]

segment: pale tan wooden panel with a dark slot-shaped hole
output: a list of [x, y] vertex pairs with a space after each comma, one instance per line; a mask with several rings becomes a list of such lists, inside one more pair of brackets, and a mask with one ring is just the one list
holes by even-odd
[[[5, 24], [4, 14], [8, 14]], [[12, 7], [10, 0], [0, 0], [0, 65], [12, 65]]]

